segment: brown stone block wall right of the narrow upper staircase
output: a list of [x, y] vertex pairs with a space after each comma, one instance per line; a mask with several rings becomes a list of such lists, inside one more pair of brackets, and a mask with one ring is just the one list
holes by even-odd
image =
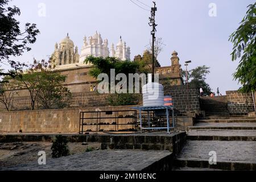
[[248, 114], [254, 111], [253, 96], [251, 93], [240, 93], [235, 91], [226, 91], [226, 100], [228, 101], [229, 113]]

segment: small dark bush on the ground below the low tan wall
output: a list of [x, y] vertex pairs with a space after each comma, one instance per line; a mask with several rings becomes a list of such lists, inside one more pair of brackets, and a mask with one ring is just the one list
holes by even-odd
[[52, 158], [60, 158], [61, 156], [70, 155], [67, 137], [57, 135], [55, 141], [52, 143], [51, 150]]

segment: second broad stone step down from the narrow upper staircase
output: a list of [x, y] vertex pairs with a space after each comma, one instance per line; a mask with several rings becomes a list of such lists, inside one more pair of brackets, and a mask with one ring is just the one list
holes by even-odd
[[188, 130], [256, 130], [256, 123], [196, 123], [188, 126]]

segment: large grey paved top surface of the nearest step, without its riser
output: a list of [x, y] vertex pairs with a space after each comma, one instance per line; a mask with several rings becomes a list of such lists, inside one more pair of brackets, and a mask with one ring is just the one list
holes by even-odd
[[216, 151], [217, 162], [256, 163], [256, 142], [187, 140], [178, 159], [206, 160]]

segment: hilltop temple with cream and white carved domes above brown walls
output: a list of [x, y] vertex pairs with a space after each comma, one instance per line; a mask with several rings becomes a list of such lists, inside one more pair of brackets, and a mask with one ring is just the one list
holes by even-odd
[[[116, 48], [112, 43], [110, 51], [108, 47], [108, 39], [103, 40], [101, 34], [96, 32], [89, 38], [84, 37], [81, 53], [79, 55], [77, 46], [67, 35], [66, 38], [55, 44], [55, 51], [52, 54], [52, 64], [55, 69], [61, 72], [62, 75], [67, 76], [65, 86], [71, 92], [89, 92], [90, 86], [95, 86], [97, 81], [88, 75], [89, 69], [93, 66], [85, 64], [86, 57], [92, 55], [94, 57], [117, 57], [120, 61], [130, 60], [130, 47], [126, 46], [121, 36]], [[171, 85], [183, 85], [181, 78], [181, 65], [179, 64], [179, 57], [176, 51], [172, 52], [171, 64], [167, 67], [160, 67], [158, 61], [155, 64], [155, 73], [159, 73], [160, 80], [168, 80]], [[150, 51], [144, 51], [143, 55], [134, 57], [134, 61], [144, 61], [151, 59]], [[148, 65], [151, 68], [151, 65]]]

